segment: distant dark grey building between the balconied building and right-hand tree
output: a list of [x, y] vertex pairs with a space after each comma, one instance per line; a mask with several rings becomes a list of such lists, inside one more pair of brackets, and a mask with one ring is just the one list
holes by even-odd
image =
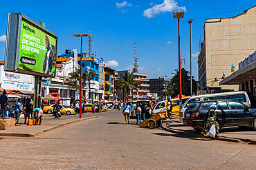
[[149, 91], [158, 94], [158, 98], [163, 98], [163, 92], [167, 89], [170, 78], [150, 78]]

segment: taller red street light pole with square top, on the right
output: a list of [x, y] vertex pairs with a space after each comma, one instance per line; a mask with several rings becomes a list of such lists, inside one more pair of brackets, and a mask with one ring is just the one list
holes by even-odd
[[178, 19], [178, 40], [179, 40], [179, 94], [180, 105], [182, 105], [182, 84], [181, 84], [181, 38], [180, 38], [180, 19], [184, 17], [184, 11], [173, 12], [173, 18]]

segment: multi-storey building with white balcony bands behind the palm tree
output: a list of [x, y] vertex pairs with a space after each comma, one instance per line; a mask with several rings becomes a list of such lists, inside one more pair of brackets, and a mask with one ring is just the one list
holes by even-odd
[[[121, 77], [122, 78], [122, 74], [125, 74], [125, 72], [131, 72], [128, 70], [125, 71], [118, 71], [117, 75], [115, 75], [115, 77]], [[121, 74], [122, 73], [122, 74]], [[134, 72], [134, 75], [136, 76], [135, 80], [140, 82], [140, 86], [138, 87], [138, 91], [137, 90], [133, 90], [133, 92], [131, 93], [131, 95], [129, 95], [129, 98], [133, 98], [133, 99], [143, 99], [143, 98], [148, 98], [147, 94], [149, 93], [149, 79], [147, 78], [147, 74], [143, 74], [143, 73], [137, 73]], [[117, 90], [117, 96], [118, 98], [122, 98], [122, 90], [118, 89]]]

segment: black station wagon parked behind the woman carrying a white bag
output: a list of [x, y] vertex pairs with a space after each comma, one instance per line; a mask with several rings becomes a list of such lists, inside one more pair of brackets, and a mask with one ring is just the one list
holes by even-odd
[[209, 100], [191, 103], [185, 110], [184, 125], [203, 129], [210, 105], [217, 105], [216, 120], [219, 127], [247, 126], [256, 130], [256, 109], [232, 100]]

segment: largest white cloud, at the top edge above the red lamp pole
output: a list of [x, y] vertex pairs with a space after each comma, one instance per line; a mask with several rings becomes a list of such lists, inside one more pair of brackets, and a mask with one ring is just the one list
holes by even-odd
[[178, 6], [175, 0], [164, 0], [161, 4], [156, 4], [152, 8], [148, 8], [143, 12], [143, 15], [147, 18], [155, 17], [161, 12], [172, 12], [174, 10], [186, 10], [185, 6]]

